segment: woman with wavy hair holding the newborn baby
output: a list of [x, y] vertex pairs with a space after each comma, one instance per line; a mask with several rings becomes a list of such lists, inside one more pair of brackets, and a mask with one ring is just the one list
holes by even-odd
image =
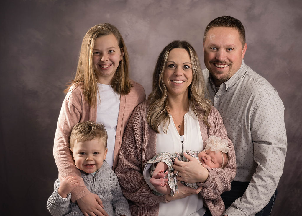
[[[230, 182], [236, 174], [233, 144], [220, 114], [205, 98], [205, 92], [193, 47], [185, 41], [168, 44], [156, 63], [149, 101], [138, 105], [129, 119], [115, 170], [125, 197], [134, 204], [130, 206], [133, 215], [166, 215], [167, 212], [169, 215], [203, 215], [202, 197], [215, 199], [230, 190]], [[211, 135], [228, 139], [230, 153], [226, 168], [206, 169], [197, 160], [186, 162], [195, 172], [174, 165], [182, 176], [179, 180], [201, 182], [203, 187], [193, 189], [179, 184], [179, 193], [173, 197], [153, 194], [143, 176], [146, 162], [159, 152], [201, 151]], [[211, 202], [207, 202], [207, 206], [215, 211]]]

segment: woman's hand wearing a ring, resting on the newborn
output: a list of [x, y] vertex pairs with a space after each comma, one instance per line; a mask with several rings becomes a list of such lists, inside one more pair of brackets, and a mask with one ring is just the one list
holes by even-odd
[[209, 177], [209, 171], [202, 166], [198, 159], [186, 153], [184, 153], [184, 155], [186, 159], [189, 160], [188, 162], [179, 161], [177, 158], [175, 158], [174, 160], [174, 174], [179, 171], [177, 180], [188, 183], [204, 183], [205, 181], [207, 181], [207, 178]]

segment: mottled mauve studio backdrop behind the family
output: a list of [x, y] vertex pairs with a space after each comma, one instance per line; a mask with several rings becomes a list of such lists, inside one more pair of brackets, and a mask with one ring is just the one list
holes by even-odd
[[156, 58], [172, 40], [189, 41], [204, 68], [204, 28], [222, 15], [243, 22], [246, 64], [283, 100], [288, 153], [273, 215], [299, 214], [301, 11], [300, 0], [2, 1], [1, 214], [48, 215], [46, 201], [58, 175], [52, 149], [62, 91], [74, 77], [90, 27], [101, 22], [117, 26], [130, 54], [130, 76], [148, 95]]

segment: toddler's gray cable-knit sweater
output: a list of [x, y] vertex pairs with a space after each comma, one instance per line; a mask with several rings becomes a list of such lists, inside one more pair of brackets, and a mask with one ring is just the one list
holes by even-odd
[[[104, 210], [109, 216], [126, 215], [131, 216], [128, 201], [124, 198], [117, 180], [117, 176], [109, 167], [108, 163], [104, 163], [100, 169], [93, 174], [87, 174], [83, 171], [82, 178], [88, 190], [101, 198], [104, 205]], [[79, 206], [70, 201], [71, 194], [69, 193], [66, 198], [62, 198], [58, 194], [60, 185], [59, 179], [54, 184], [53, 194], [48, 198], [47, 209], [52, 215], [83, 215]]]

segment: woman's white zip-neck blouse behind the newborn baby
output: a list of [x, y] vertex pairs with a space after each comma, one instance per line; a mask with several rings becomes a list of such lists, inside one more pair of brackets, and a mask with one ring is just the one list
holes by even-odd
[[[178, 152], [179, 154], [183, 154], [187, 150], [202, 151], [204, 149], [198, 118], [195, 116], [191, 106], [188, 113], [184, 116], [184, 121], [184, 136], [179, 136], [171, 115], [167, 134], [163, 133], [163, 124], [160, 124], [160, 133], [157, 134], [156, 139], [157, 154], [160, 152]], [[149, 168], [150, 165], [146, 165], [143, 174], [149, 187], [154, 190], [155, 188], [149, 182], [151, 178]], [[159, 203], [159, 216], [167, 215], [167, 213], [169, 215], [202, 216], [204, 212], [205, 209], [203, 208], [202, 196], [200, 194], [190, 195], [168, 203]]]

